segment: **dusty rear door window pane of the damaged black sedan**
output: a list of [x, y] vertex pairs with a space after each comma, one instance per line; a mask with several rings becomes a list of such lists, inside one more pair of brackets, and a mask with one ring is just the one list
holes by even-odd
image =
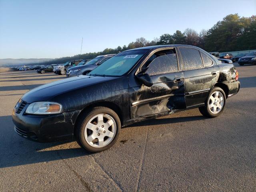
[[179, 50], [182, 57], [184, 70], [204, 66], [198, 50], [189, 47], [180, 47]]

